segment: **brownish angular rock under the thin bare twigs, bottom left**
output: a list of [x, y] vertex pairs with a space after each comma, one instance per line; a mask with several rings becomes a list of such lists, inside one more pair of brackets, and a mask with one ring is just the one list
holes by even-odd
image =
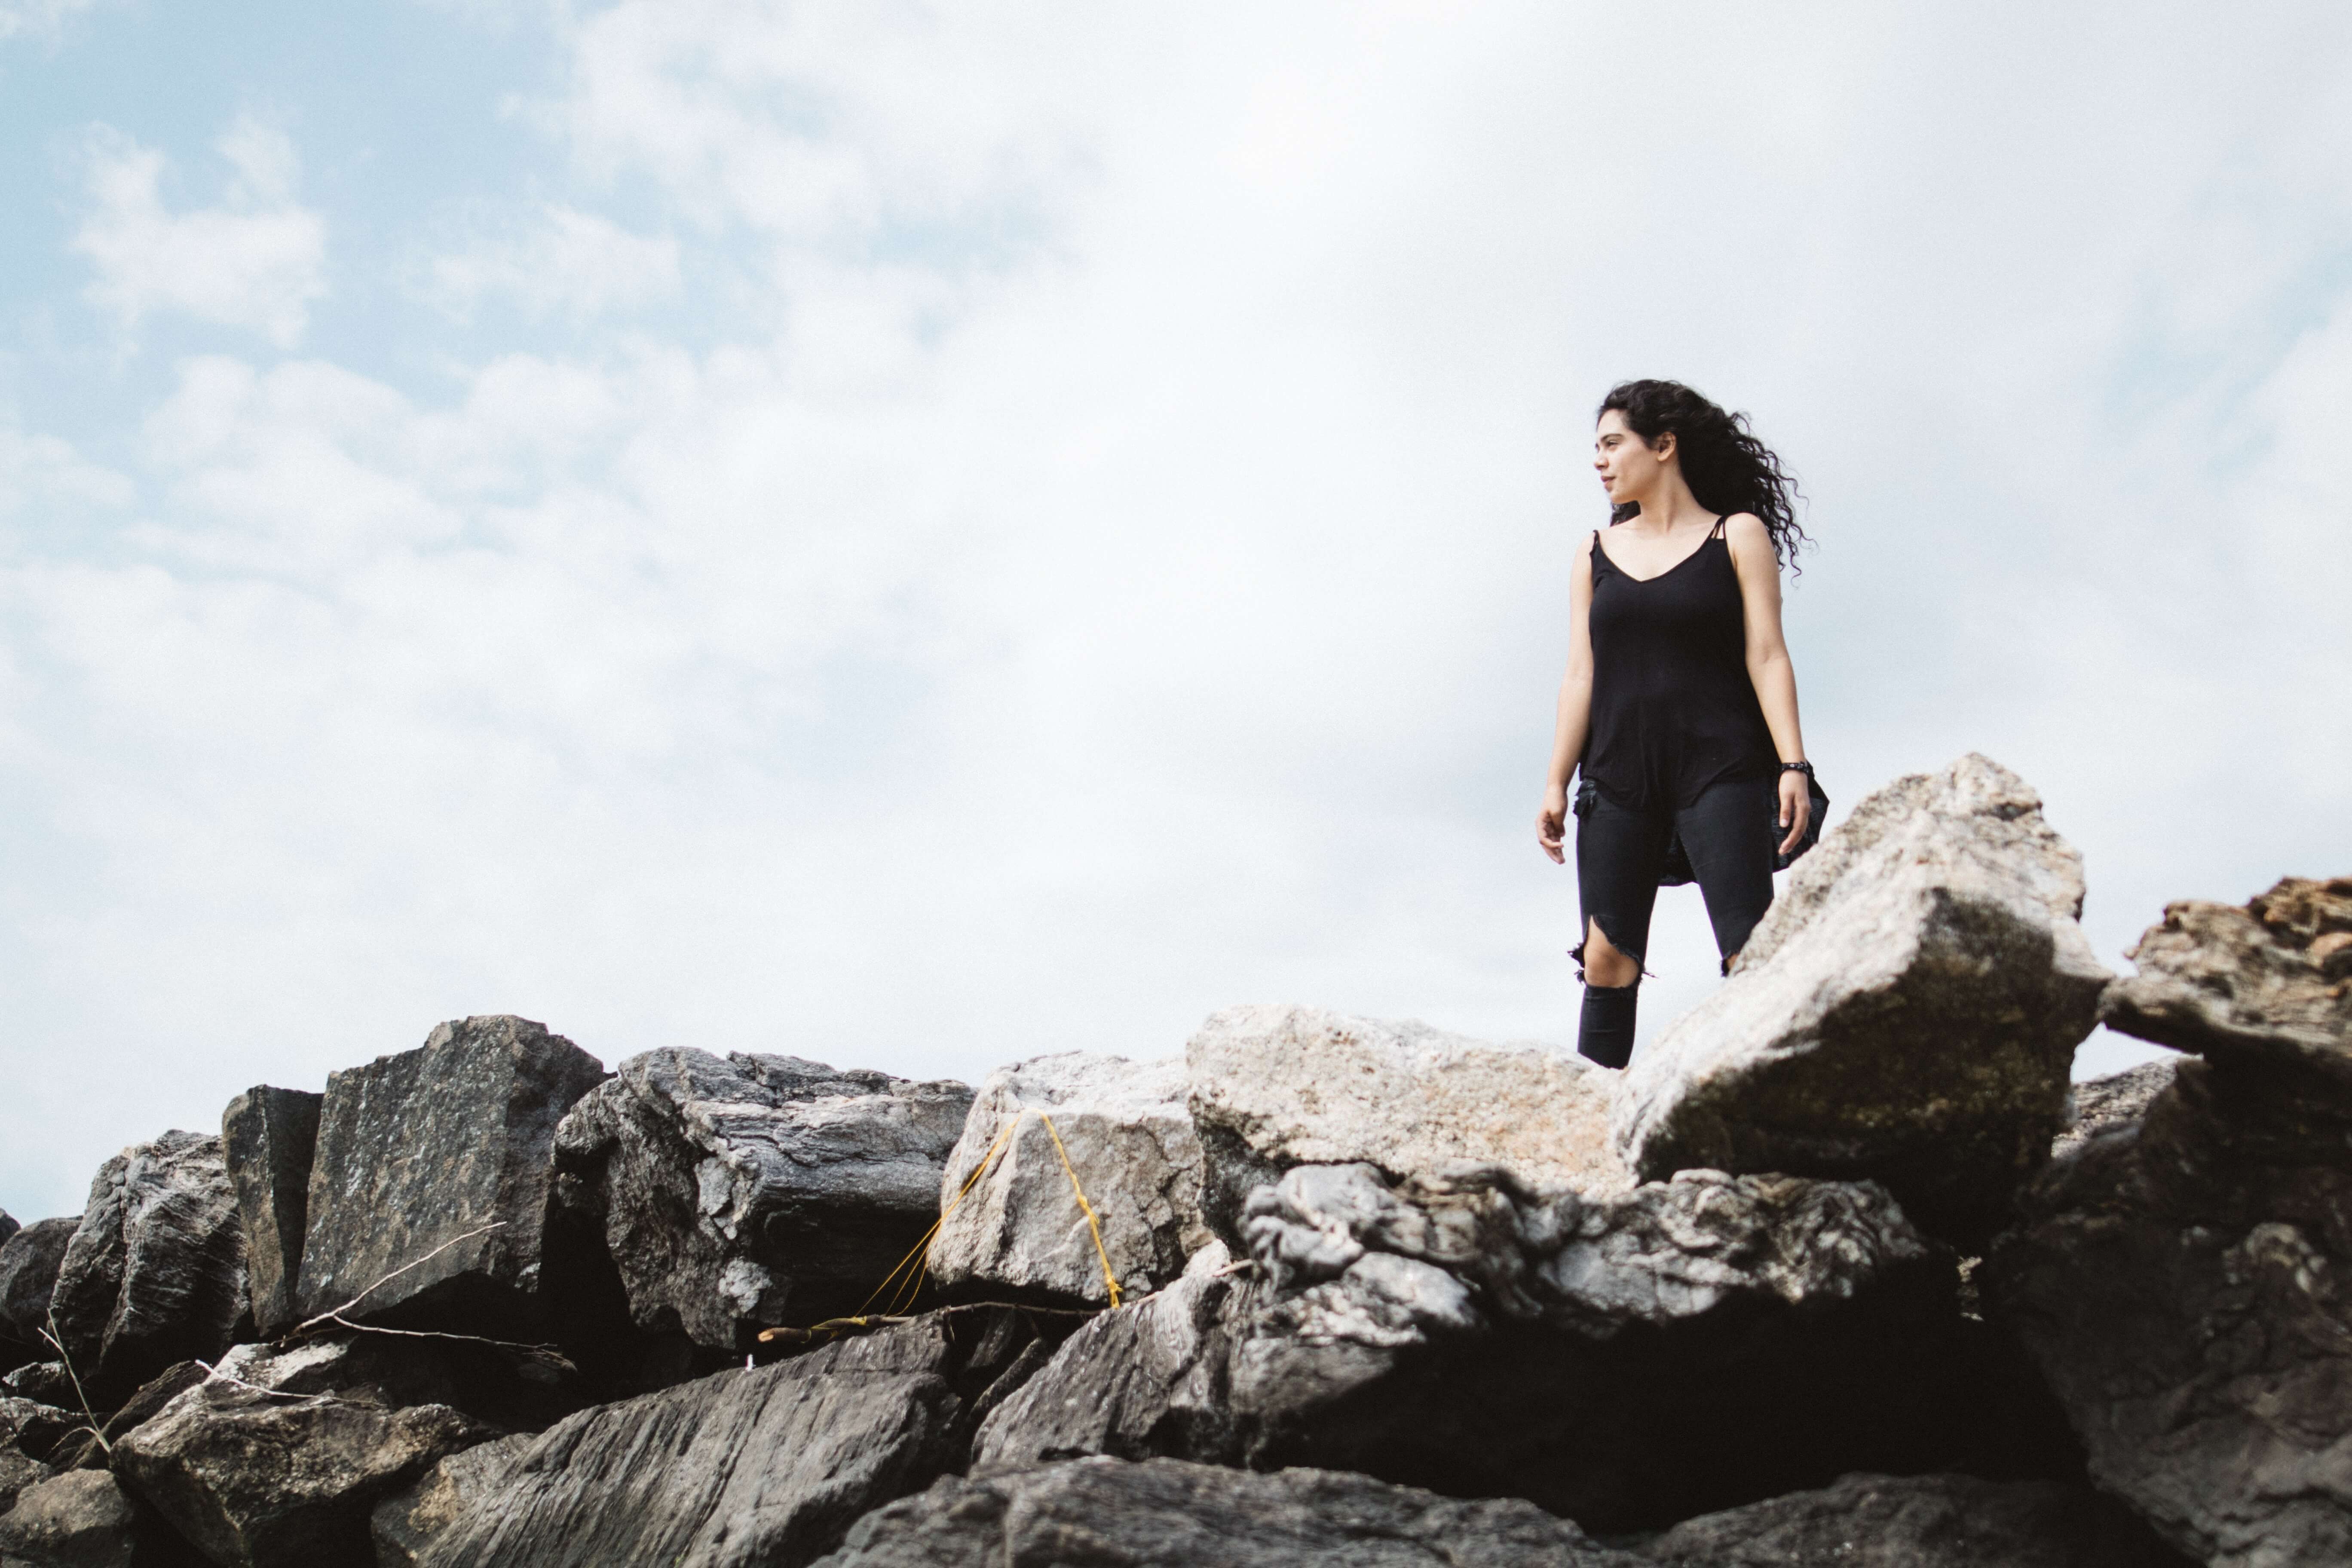
[[365, 1563], [376, 1500], [494, 1436], [449, 1406], [270, 1396], [212, 1378], [115, 1443], [115, 1474], [223, 1568]]

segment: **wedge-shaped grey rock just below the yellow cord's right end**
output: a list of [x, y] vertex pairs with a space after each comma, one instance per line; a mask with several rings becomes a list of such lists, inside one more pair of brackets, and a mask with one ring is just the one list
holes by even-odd
[[[1223, 1258], [1225, 1248], [1211, 1244], [1209, 1253]], [[981, 1422], [974, 1469], [1080, 1455], [1237, 1465], [1242, 1432], [1232, 1418], [1228, 1363], [1247, 1305], [1242, 1284], [1202, 1269], [1089, 1319]]]

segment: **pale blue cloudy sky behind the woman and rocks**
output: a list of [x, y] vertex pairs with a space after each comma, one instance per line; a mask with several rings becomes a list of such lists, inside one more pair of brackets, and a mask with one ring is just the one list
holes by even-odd
[[468, 1013], [1571, 1044], [1628, 376], [1804, 482], [1832, 823], [2004, 762], [2112, 966], [2352, 872], [2347, 148], [2336, 5], [0, 0], [0, 1206]]

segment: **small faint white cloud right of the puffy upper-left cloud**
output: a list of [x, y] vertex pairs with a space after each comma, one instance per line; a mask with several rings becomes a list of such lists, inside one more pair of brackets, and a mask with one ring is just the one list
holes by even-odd
[[426, 294], [452, 315], [506, 296], [529, 320], [595, 317], [677, 294], [677, 240], [668, 235], [635, 235], [560, 202], [541, 202], [520, 223], [485, 228], [428, 263]]

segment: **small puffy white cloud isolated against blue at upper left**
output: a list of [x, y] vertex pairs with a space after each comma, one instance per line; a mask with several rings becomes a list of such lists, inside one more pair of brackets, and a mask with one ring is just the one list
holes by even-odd
[[89, 212], [73, 235], [96, 268], [87, 296], [125, 331], [179, 310], [292, 348], [327, 294], [327, 223], [294, 200], [299, 160], [282, 129], [245, 115], [216, 146], [230, 167], [221, 205], [174, 214], [162, 153], [92, 132]]

